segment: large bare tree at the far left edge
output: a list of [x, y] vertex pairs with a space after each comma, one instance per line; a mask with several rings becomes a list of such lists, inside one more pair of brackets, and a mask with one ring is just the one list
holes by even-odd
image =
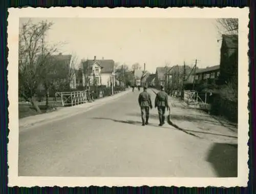
[[[22, 25], [19, 32], [19, 95], [30, 101], [38, 113], [41, 111], [36, 102], [35, 94], [49, 71], [47, 58], [57, 50], [56, 47], [50, 47], [44, 41], [46, 32], [50, 30], [52, 25], [53, 23], [48, 21], [33, 24], [29, 20]], [[38, 60], [39, 56], [41, 56], [40, 60]]]

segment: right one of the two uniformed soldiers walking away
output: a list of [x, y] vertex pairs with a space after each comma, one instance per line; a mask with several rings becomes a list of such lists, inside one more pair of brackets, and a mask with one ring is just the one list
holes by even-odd
[[158, 110], [158, 116], [159, 116], [159, 126], [162, 126], [164, 124], [165, 120], [165, 109], [169, 109], [168, 105], [168, 94], [164, 92], [164, 87], [161, 85], [161, 91], [157, 93], [156, 99], [155, 99], [155, 107], [157, 107]]

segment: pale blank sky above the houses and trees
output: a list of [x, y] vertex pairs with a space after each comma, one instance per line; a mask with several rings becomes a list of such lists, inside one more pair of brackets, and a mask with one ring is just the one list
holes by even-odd
[[[140, 63], [146, 70], [156, 67], [195, 63], [198, 67], [220, 63], [220, 34], [215, 19], [207, 18], [32, 18], [53, 21], [49, 42], [66, 41], [63, 54], [82, 58], [113, 59], [132, 66]], [[20, 24], [28, 18], [20, 19]]]

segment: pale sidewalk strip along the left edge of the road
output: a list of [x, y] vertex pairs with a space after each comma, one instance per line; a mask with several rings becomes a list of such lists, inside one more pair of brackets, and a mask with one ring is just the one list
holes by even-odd
[[[81, 114], [81, 113], [85, 113], [87, 111], [92, 110], [94, 107], [98, 107], [100, 105], [103, 105], [106, 102], [109, 102], [111, 100], [115, 100], [116, 98], [119, 98], [119, 97], [121, 97], [125, 94], [128, 94], [129, 92], [130, 92], [130, 90], [126, 90], [126, 91], [120, 92], [120, 93], [118, 93], [116, 95], [113, 95], [113, 96], [108, 96], [108, 97], [105, 97], [105, 98], [95, 100], [94, 102], [87, 102], [87, 103], [83, 103], [83, 104], [79, 104], [79, 105], [75, 105], [75, 106], [71, 106], [71, 107], [65, 107], [65, 108], [63, 107], [60, 110], [42, 114], [44, 116], [48, 115], [48, 117], [44, 117], [44, 118], [42, 118], [42, 117], [40, 118], [41, 115], [26, 117], [26, 118], [24, 118], [25, 120], [19, 120], [18, 121], [19, 122], [18, 126], [19, 126], [19, 129], [20, 129], [20, 128], [33, 126], [35, 124], [45, 124], [45, 123], [51, 122], [52, 120], [55, 121], [55, 120], [65, 119], [67, 117], [70, 117], [70, 114], [72, 114], [72, 116], [75, 116], [75, 115], [78, 115], [78, 114]], [[74, 112], [77, 109], [80, 109], [80, 111]], [[65, 112], [64, 112], [64, 110], [65, 110]], [[57, 114], [58, 111], [59, 111], [59, 114]], [[60, 114], [61, 111], [63, 112], [62, 114]], [[53, 115], [53, 114], [57, 114], [57, 115]], [[33, 120], [33, 121], [26, 121], [26, 119], [30, 119], [30, 118], [32, 119], [33, 117], [34, 118], [39, 117], [39, 118], [37, 118], [37, 119], [35, 118], [35, 120]]]

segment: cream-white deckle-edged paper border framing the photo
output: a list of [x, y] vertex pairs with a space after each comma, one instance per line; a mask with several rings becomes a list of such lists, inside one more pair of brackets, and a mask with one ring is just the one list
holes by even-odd
[[[248, 182], [248, 8], [9, 8], [8, 9], [8, 186], [247, 186]], [[239, 123], [237, 178], [18, 177], [18, 27], [20, 17], [239, 18]]]

